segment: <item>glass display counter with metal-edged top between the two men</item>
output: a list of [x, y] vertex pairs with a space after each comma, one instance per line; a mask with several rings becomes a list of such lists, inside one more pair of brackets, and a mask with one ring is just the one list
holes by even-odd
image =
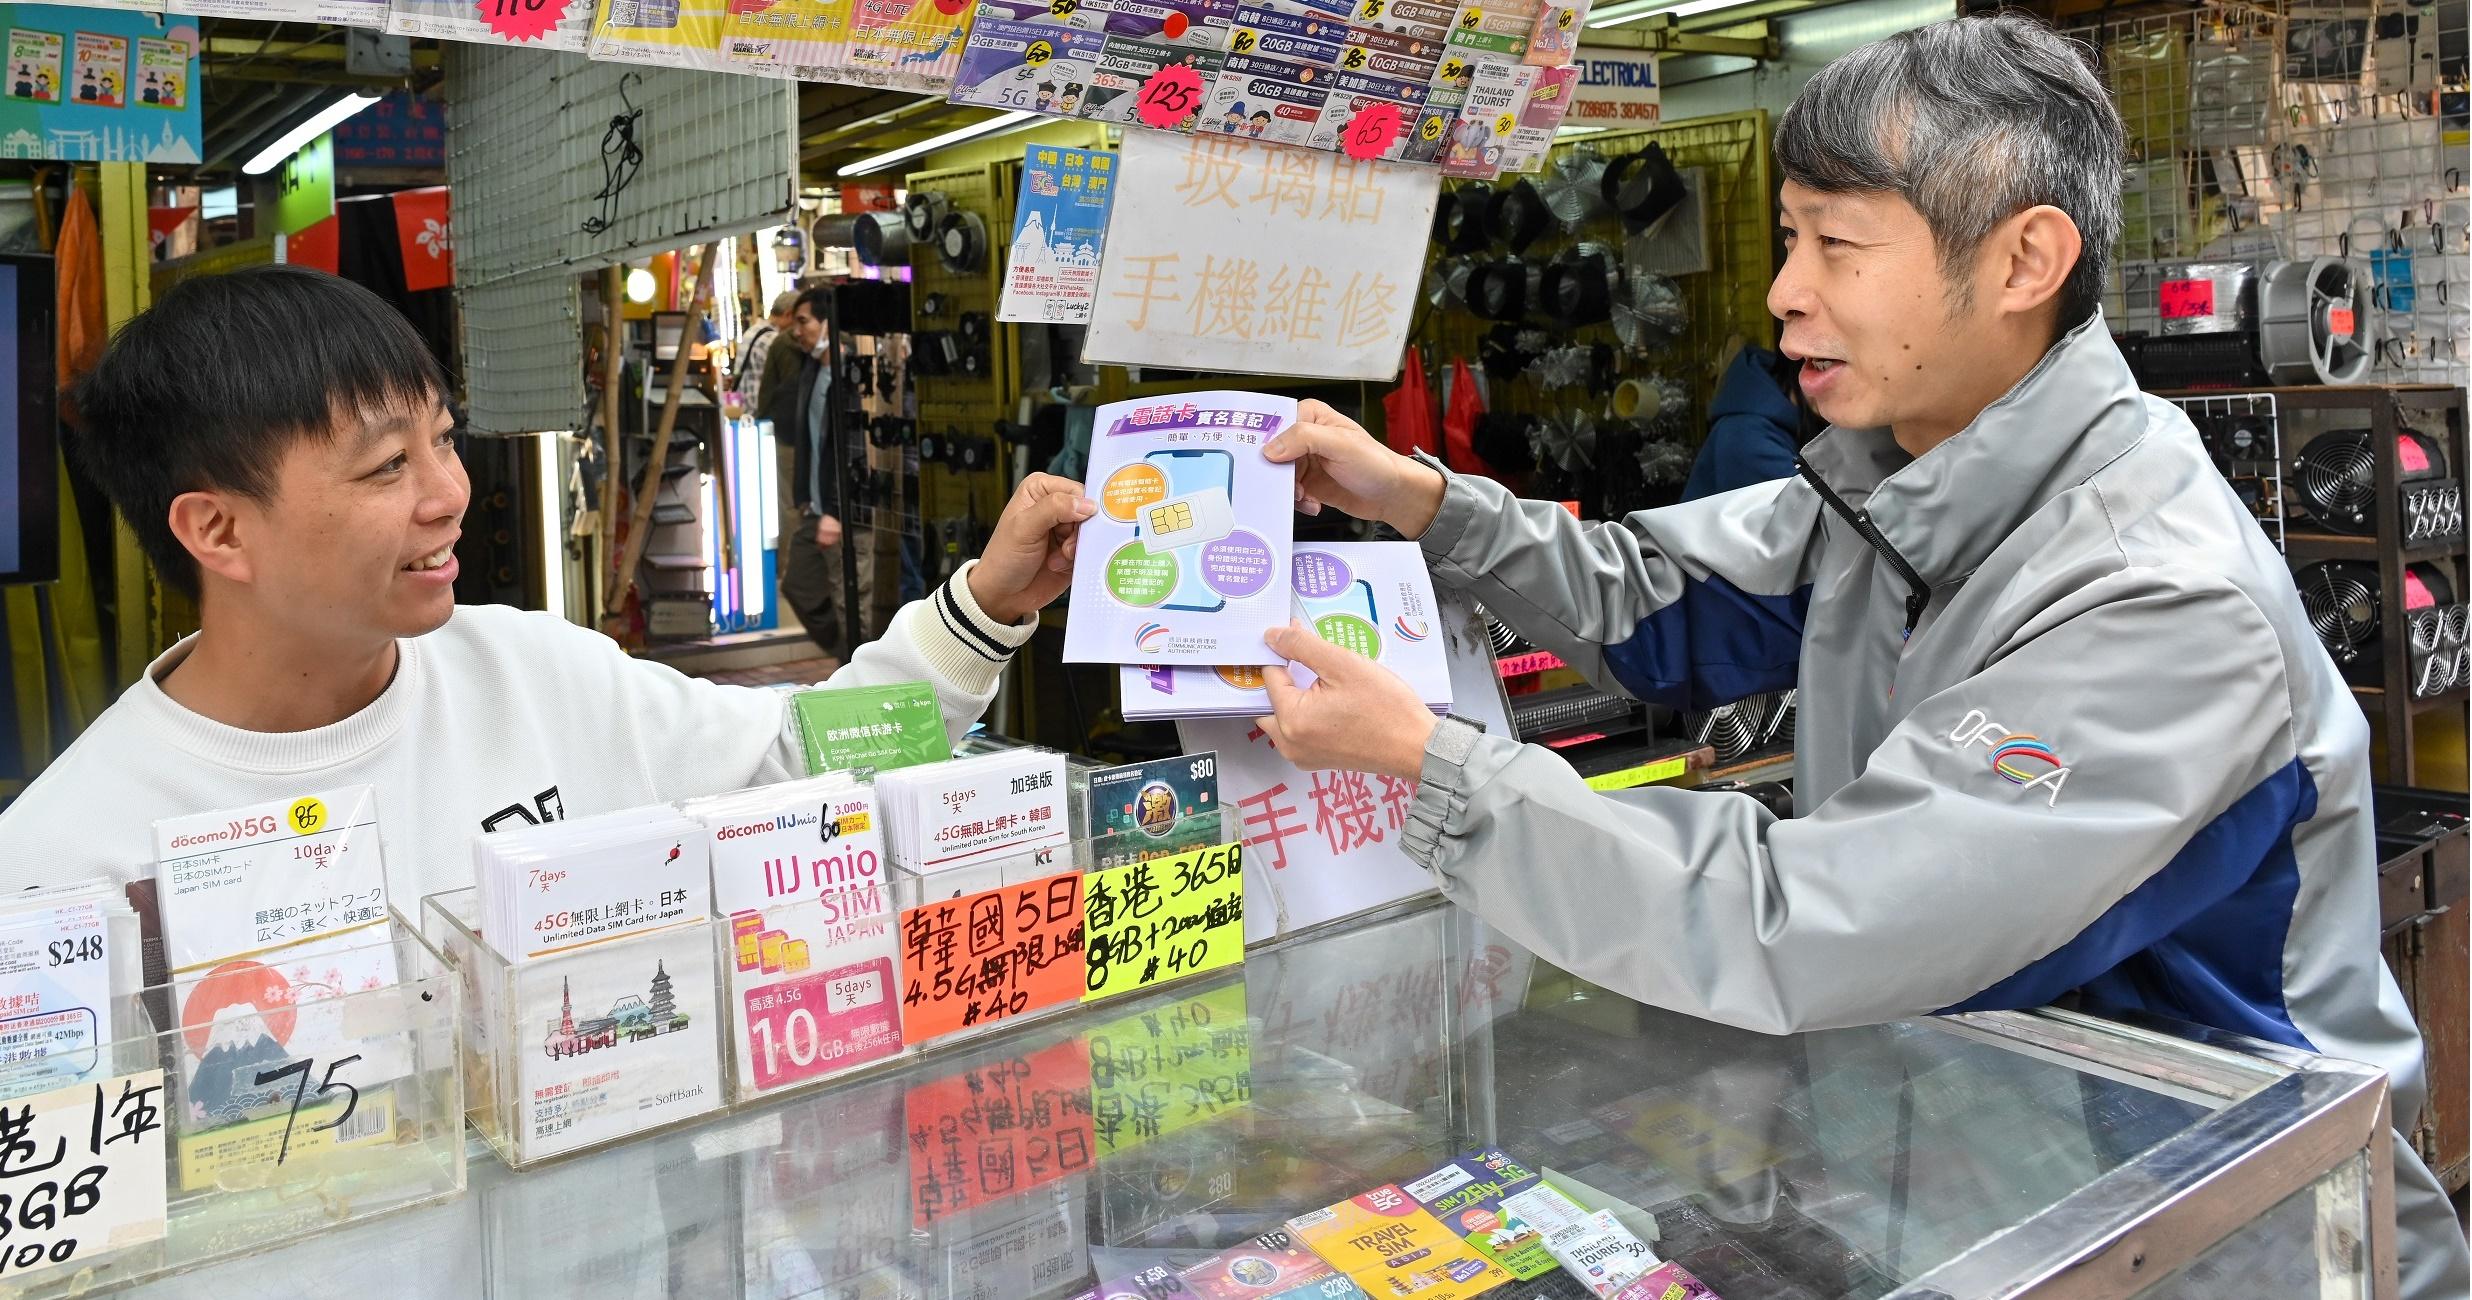
[[2393, 1290], [2366, 1068], [2064, 1011], [1765, 1038], [1424, 902], [522, 1174], [475, 1147], [457, 1201], [131, 1295], [1063, 1300], [1481, 1144], [1728, 1300]]

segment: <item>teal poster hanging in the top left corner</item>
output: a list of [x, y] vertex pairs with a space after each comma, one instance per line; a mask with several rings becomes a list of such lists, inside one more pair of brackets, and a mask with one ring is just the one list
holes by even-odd
[[198, 27], [143, 12], [0, 5], [0, 158], [198, 163]]

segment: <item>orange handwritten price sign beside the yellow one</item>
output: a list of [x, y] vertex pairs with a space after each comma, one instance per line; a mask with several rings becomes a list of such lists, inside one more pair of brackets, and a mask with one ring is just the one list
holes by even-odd
[[1083, 877], [1004, 885], [902, 912], [902, 1038], [1026, 1016], [1083, 994]]

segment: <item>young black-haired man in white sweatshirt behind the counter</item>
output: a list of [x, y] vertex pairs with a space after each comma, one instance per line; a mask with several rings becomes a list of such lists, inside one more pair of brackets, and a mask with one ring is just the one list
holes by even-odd
[[[470, 482], [445, 373], [376, 294], [302, 267], [190, 279], [79, 381], [72, 452], [198, 635], [0, 811], [0, 887], [153, 863], [153, 821], [373, 786], [393, 905], [472, 835], [803, 774], [789, 697], [455, 606]], [[986, 551], [828, 685], [932, 682], [959, 737], [1073, 568], [1080, 484], [1031, 475]]]

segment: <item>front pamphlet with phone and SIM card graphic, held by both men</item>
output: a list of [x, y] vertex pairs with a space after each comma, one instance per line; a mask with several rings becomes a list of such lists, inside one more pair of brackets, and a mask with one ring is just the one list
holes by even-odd
[[1098, 408], [1065, 662], [1271, 665], [1288, 620], [1295, 400], [1179, 393]]

